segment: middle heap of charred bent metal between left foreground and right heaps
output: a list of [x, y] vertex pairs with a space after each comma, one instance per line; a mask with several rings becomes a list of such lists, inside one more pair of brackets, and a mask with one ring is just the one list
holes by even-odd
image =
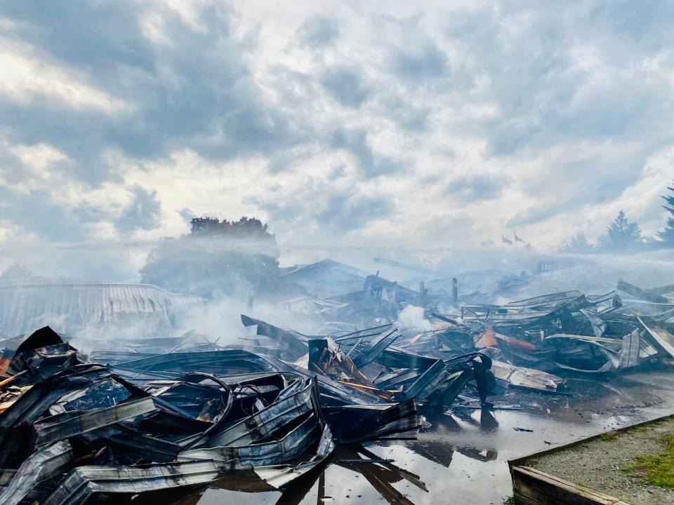
[[484, 406], [486, 397], [499, 391], [496, 384], [562, 393], [566, 383], [540, 370], [497, 361], [496, 349], [475, 344], [480, 337], [468, 326], [439, 315], [432, 318], [433, 329], [422, 333], [399, 331], [389, 323], [334, 339], [283, 330], [248, 316], [242, 322], [257, 328], [256, 335], [242, 339], [242, 347], [381, 398], [414, 397], [427, 411], [446, 411], [468, 385]]

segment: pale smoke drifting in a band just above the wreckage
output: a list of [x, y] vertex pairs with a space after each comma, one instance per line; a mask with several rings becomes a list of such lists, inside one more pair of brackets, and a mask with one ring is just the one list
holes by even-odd
[[[135, 244], [119, 244], [117, 247], [105, 248], [104, 245], [83, 245], [81, 248], [70, 246], [58, 250], [41, 250], [34, 248], [27, 254], [27, 250], [18, 248], [14, 251], [16, 259], [26, 264], [27, 269], [35, 275], [41, 276], [70, 276], [85, 279], [93, 271], [100, 272], [99, 278], [105, 271], [110, 272], [106, 280], [126, 280], [138, 282], [138, 268], [143, 267], [147, 258], [147, 249], [155, 248], [165, 242], [147, 242]], [[253, 244], [254, 245], [254, 244]], [[250, 250], [249, 250], [250, 249]], [[451, 278], [459, 279], [459, 305], [472, 302], [505, 303], [515, 299], [545, 295], [550, 292], [565, 290], [581, 290], [588, 294], [600, 294], [615, 289], [617, 281], [623, 279], [642, 288], [652, 288], [658, 285], [674, 283], [674, 257], [670, 250], [649, 251], [630, 255], [607, 254], [541, 254], [529, 250], [508, 250], [503, 248], [484, 248], [480, 250], [382, 250], [381, 248], [345, 248], [343, 250], [303, 250], [295, 248], [284, 257], [286, 250], [282, 250], [280, 260], [287, 264], [288, 258], [296, 262], [310, 262], [332, 257], [341, 260], [352, 267], [339, 267], [340, 274], [333, 271], [321, 277], [312, 278], [304, 284], [304, 288], [293, 286], [292, 289], [282, 283], [275, 284], [286, 271], [275, 269], [270, 289], [251, 288], [250, 276], [227, 277], [226, 292], [216, 290], [208, 300], [200, 304], [181, 305], [174, 307], [176, 314], [159, 311], [153, 314], [147, 311], [141, 314], [128, 314], [121, 321], [112, 324], [106, 323], [100, 328], [73, 328], [72, 317], [68, 314], [59, 314], [58, 311], [46, 311], [39, 316], [34, 315], [30, 321], [32, 330], [41, 325], [49, 324], [59, 332], [65, 332], [76, 346], [81, 349], [128, 349], [133, 342], [147, 337], [177, 337], [194, 330], [204, 335], [209, 342], [217, 341], [219, 345], [241, 343], [239, 339], [251, 335], [251, 330], [244, 328], [240, 315], [246, 314], [253, 318], [262, 319], [280, 328], [292, 328], [305, 335], [326, 335], [331, 332], [337, 323], [343, 325], [354, 324], [353, 321], [343, 321], [335, 318], [326, 321], [322, 314], [314, 313], [311, 307], [303, 309], [301, 299], [307, 297], [329, 298], [336, 294], [355, 291], [362, 286], [362, 278], [367, 274], [374, 274], [381, 270], [380, 275], [390, 281], [398, 281], [400, 285], [417, 290], [420, 281], [425, 287], [434, 292], [444, 290], [449, 292]], [[224, 277], [222, 270], [198, 270], [199, 278], [192, 278], [192, 272], [185, 268], [185, 263], [192, 261], [203, 267], [213, 264], [222, 267], [221, 257], [239, 257], [241, 255], [260, 255], [266, 252], [259, 245], [230, 243], [219, 245], [212, 241], [190, 241], [184, 250], [180, 250], [176, 261], [167, 272], [167, 275], [176, 271], [182, 275], [186, 289], [171, 289], [173, 291], [188, 291], [190, 287], [197, 287], [204, 281], [215, 279], [221, 285]], [[26, 253], [26, 254], [25, 254]], [[105, 254], [103, 254], [105, 253]], [[234, 255], [235, 253], [235, 255]], [[325, 254], [325, 255], [323, 255]], [[333, 254], [333, 256], [331, 256]], [[234, 256], [233, 256], [234, 255]], [[8, 259], [5, 255], [4, 260]], [[197, 258], [197, 260], [195, 260]], [[61, 260], [63, 259], [63, 260]], [[209, 260], [209, 262], [206, 262]], [[224, 267], [233, 269], [236, 265], [230, 261], [224, 262]], [[107, 269], [106, 265], [117, 265]], [[133, 265], [123, 267], [122, 278], [115, 278], [114, 271], [119, 271], [119, 265]], [[241, 267], [241, 264], [244, 267]], [[236, 267], [239, 271], [246, 271], [248, 262], [242, 262]], [[541, 264], [550, 264], [554, 268], [541, 271]], [[182, 267], [181, 267], [182, 265]], [[3, 265], [3, 267], [8, 265]], [[78, 269], [81, 267], [81, 270]], [[100, 267], [100, 269], [99, 269]], [[133, 277], [128, 274], [135, 269]], [[1, 269], [0, 269], [1, 270]], [[194, 270], [197, 272], [197, 270]], [[203, 274], [206, 272], [206, 274]], [[210, 272], [210, 274], [209, 274]], [[261, 270], [266, 275], [265, 270]], [[345, 275], [343, 275], [345, 274]], [[253, 278], [257, 280], [257, 278]], [[272, 285], [273, 284], [273, 285]], [[506, 287], [503, 288], [503, 285]], [[288, 299], [300, 299], [293, 304], [293, 311], [283, 303]], [[467, 301], [470, 299], [470, 301]], [[11, 299], [8, 300], [11, 302]], [[310, 306], [310, 303], [306, 304]], [[55, 304], [54, 307], [60, 307]], [[447, 311], [454, 307], [445, 307]], [[9, 309], [8, 309], [9, 310]], [[14, 307], [11, 310], [20, 310]], [[442, 307], [440, 308], [442, 312]], [[402, 330], [425, 331], [430, 330], [430, 323], [423, 317], [421, 307], [405, 307], [397, 316], [395, 324]], [[72, 316], [72, 314], [70, 314]], [[27, 331], [32, 331], [27, 330]], [[23, 331], [23, 330], [22, 330]], [[6, 335], [15, 337], [16, 335]], [[205, 343], [200, 336], [199, 342]]]

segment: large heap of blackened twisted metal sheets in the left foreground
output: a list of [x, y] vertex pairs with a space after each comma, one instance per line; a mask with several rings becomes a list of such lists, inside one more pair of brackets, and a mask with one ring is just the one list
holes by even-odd
[[[34, 332], [2, 361], [0, 503], [191, 490], [236, 471], [284, 487], [336, 443], [416, 437], [424, 421], [415, 396], [428, 403], [437, 389], [429, 384], [461, 374], [461, 365], [438, 362], [442, 374], [378, 391], [364, 375], [342, 380], [355, 374], [354, 361], [338, 353], [343, 361], [334, 363], [329, 341], [310, 344], [310, 366], [325, 375], [238, 349], [118, 352], [107, 365], [85, 363], [50, 328]], [[357, 363], [376, 354], [360, 344], [350, 350]]]

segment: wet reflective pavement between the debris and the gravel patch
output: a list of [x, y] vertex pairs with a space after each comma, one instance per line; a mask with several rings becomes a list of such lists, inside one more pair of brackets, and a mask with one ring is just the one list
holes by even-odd
[[[571, 396], [510, 390], [493, 399], [521, 410], [456, 409], [427, 417], [432, 427], [418, 440], [338, 447], [329, 465], [285, 492], [254, 475], [237, 476], [192, 494], [142, 503], [501, 505], [512, 494], [508, 459], [674, 413], [672, 369], [572, 377], [569, 390]], [[393, 461], [354, 462], [372, 458]]]

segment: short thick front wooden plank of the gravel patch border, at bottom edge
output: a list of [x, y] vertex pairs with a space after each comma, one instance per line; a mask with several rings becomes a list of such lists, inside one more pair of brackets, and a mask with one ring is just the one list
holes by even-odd
[[512, 469], [515, 501], [522, 505], [629, 505], [529, 466]]

